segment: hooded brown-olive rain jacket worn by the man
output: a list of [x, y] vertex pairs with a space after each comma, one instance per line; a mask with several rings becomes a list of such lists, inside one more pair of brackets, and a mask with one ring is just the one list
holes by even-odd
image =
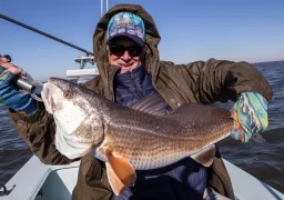
[[[110, 18], [120, 11], [132, 11], [144, 20], [146, 30], [145, 68], [153, 87], [173, 108], [186, 102], [213, 103], [236, 101], [241, 92], [254, 91], [272, 100], [272, 88], [266, 79], [247, 62], [210, 59], [187, 64], [160, 60], [160, 34], [152, 17], [136, 4], [118, 4], [99, 21], [93, 34], [93, 51], [100, 76], [85, 86], [114, 101], [113, 78], [118, 67], [110, 66], [105, 48], [105, 30]], [[10, 111], [10, 119], [32, 152], [47, 164], [67, 164], [73, 160], [62, 156], [54, 146], [55, 124], [51, 114], [39, 103], [31, 117]], [[232, 184], [219, 154], [211, 167], [210, 186], [226, 197], [234, 198]], [[87, 154], [82, 158], [73, 199], [110, 199], [104, 163]]]

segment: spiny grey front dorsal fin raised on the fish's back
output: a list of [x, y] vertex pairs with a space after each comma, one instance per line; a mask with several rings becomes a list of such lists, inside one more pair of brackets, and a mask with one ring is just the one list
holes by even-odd
[[153, 92], [133, 103], [131, 108], [154, 116], [166, 116], [165, 106], [166, 103], [160, 93]]

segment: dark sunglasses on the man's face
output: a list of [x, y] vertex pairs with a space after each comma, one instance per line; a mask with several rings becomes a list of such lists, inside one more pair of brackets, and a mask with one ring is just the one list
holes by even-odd
[[138, 57], [143, 52], [143, 47], [140, 47], [140, 46], [122, 47], [122, 46], [109, 44], [109, 50], [112, 54], [115, 54], [118, 57], [121, 57], [122, 54], [124, 54], [125, 51], [128, 51], [129, 56], [131, 57]]

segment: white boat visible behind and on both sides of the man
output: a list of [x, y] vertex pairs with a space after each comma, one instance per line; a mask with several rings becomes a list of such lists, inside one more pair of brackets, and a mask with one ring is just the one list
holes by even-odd
[[[67, 70], [67, 79], [82, 83], [85, 78], [99, 74], [97, 68], [84, 68], [87, 63], [94, 64], [93, 57], [78, 57], [74, 61], [80, 63], [80, 69]], [[284, 193], [230, 161], [223, 160], [231, 177], [236, 200], [284, 200]], [[49, 166], [32, 156], [2, 188], [0, 187], [0, 200], [70, 200], [77, 183], [79, 164], [80, 161]]]

